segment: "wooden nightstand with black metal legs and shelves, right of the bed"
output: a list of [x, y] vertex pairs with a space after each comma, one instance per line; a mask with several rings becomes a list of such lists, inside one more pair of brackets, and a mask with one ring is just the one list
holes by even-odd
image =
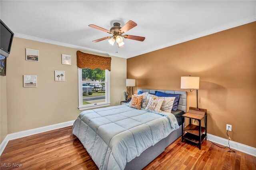
[[[182, 115], [183, 117], [189, 118], [189, 125], [183, 128], [183, 120], [182, 120], [182, 142], [183, 140], [188, 140], [193, 142], [199, 146], [201, 150], [201, 144], [204, 141], [207, 134], [207, 109], [196, 109], [195, 107], [189, 107], [188, 113]], [[201, 127], [201, 121], [205, 117], [205, 127]], [[196, 119], [199, 122], [198, 125], [193, 125], [191, 123], [191, 119]], [[186, 132], [186, 134], [183, 134]], [[205, 134], [203, 134], [205, 132]]]

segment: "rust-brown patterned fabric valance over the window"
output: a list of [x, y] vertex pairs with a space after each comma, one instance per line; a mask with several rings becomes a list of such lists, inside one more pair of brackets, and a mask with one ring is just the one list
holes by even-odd
[[102, 57], [99, 55], [93, 55], [76, 51], [77, 67], [84, 69], [108, 69], [111, 70], [111, 57]]

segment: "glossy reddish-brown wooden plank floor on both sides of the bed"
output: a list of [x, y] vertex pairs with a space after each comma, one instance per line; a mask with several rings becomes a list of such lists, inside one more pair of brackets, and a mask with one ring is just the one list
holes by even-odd
[[[227, 151], [209, 141], [204, 141], [202, 150], [199, 150], [178, 138], [145, 169], [256, 170], [256, 157]], [[72, 127], [10, 140], [0, 160], [1, 170], [14, 169], [13, 163], [22, 164], [21, 168], [17, 168], [19, 170], [98, 169], [78, 138], [72, 134]], [[4, 163], [7, 166], [10, 163], [11, 167], [3, 167]]]

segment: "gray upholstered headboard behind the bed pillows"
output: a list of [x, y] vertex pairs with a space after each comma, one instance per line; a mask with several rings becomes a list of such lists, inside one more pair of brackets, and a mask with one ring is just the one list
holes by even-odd
[[180, 101], [178, 105], [178, 109], [187, 112], [187, 92], [186, 91], [172, 91], [172, 90], [152, 90], [152, 89], [138, 89], [137, 92], [148, 92], [148, 93], [155, 93], [155, 91], [160, 91], [163, 93], [172, 93], [172, 94], [180, 94]]

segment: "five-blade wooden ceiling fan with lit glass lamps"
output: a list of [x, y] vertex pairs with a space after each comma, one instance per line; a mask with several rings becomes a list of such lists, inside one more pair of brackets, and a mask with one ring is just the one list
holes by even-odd
[[123, 42], [123, 38], [127, 38], [127, 39], [131, 39], [131, 40], [136, 40], [136, 41], [141, 41], [143, 42], [145, 40], [145, 37], [140, 37], [140, 36], [132, 36], [132, 35], [122, 35], [124, 34], [125, 32], [129, 31], [130, 29], [134, 28], [137, 26], [137, 24], [133, 21], [128, 21], [126, 24], [124, 24], [124, 26], [121, 28], [120, 27], [120, 24], [118, 22], [115, 22], [113, 24], [113, 27], [110, 28], [110, 31], [109, 30], [106, 30], [104, 28], [101, 28], [99, 26], [96, 26], [96, 25], [88, 25], [89, 27], [92, 27], [92, 28], [95, 28], [95, 29], [98, 29], [98, 30], [101, 30], [101, 31], [104, 31], [104, 32], [107, 32], [109, 34], [112, 34], [113, 36], [108, 36], [108, 37], [104, 37], [104, 38], [100, 38], [98, 40], [94, 40], [92, 42], [100, 42], [102, 40], [106, 40], [106, 39], [110, 39], [108, 40], [108, 42], [111, 44], [111, 45], [114, 45], [114, 43], [116, 42], [117, 43], [117, 46], [118, 48], [121, 48], [124, 46], [124, 42]]

